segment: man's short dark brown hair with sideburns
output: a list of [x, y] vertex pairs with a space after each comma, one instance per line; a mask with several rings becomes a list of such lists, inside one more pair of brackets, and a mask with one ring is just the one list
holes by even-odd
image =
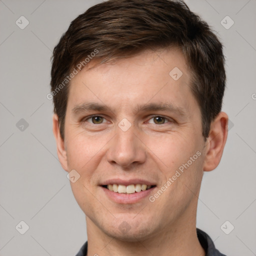
[[109, 0], [90, 7], [70, 23], [54, 47], [51, 68], [51, 93], [61, 137], [68, 97], [66, 77], [77, 63], [96, 51], [93, 59], [105, 63], [169, 46], [182, 50], [191, 69], [191, 91], [200, 107], [206, 138], [210, 122], [221, 111], [225, 88], [222, 44], [181, 0]]

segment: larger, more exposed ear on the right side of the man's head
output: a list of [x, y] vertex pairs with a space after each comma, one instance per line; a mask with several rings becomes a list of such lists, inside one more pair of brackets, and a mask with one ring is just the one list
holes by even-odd
[[205, 144], [204, 171], [215, 169], [220, 162], [227, 138], [227, 123], [227, 114], [220, 112], [210, 124], [209, 136]]

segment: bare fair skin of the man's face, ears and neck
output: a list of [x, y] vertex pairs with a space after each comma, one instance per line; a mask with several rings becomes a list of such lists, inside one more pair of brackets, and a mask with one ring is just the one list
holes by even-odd
[[[176, 81], [169, 75], [174, 67], [183, 73]], [[220, 161], [228, 117], [224, 112], [216, 116], [205, 141], [190, 79], [182, 53], [172, 48], [84, 68], [71, 80], [64, 140], [55, 114], [53, 133], [62, 167], [80, 174], [70, 185], [86, 215], [88, 255], [205, 255], [196, 236], [197, 200], [203, 171]], [[110, 110], [73, 115], [84, 101]], [[162, 102], [179, 107], [183, 115], [133, 112], [137, 104]], [[84, 120], [92, 114], [103, 118]], [[123, 118], [131, 123], [127, 131], [118, 127]], [[156, 185], [154, 195], [197, 151], [201, 155], [153, 202], [146, 196], [136, 203], [116, 203], [99, 186], [109, 178], [142, 178]], [[118, 228], [123, 221], [126, 232]]]

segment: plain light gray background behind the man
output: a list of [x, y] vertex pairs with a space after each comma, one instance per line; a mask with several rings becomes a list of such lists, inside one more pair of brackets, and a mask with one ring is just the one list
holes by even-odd
[[[0, 0], [1, 256], [75, 255], [86, 240], [84, 213], [57, 159], [46, 94], [54, 45], [72, 19], [98, 2]], [[231, 120], [222, 160], [203, 176], [197, 227], [227, 256], [256, 255], [256, 0], [186, 2], [224, 44], [223, 110]], [[15, 24], [21, 15], [29, 21], [24, 29]], [[220, 23], [227, 15], [234, 21], [229, 29]], [[23, 130], [21, 118], [28, 123]], [[21, 220], [29, 226], [24, 234], [15, 229]]]

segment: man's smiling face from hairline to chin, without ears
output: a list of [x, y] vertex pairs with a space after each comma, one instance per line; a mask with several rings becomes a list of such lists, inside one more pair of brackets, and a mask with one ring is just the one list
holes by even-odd
[[[70, 184], [87, 225], [132, 241], [185, 228], [195, 216], [205, 141], [190, 80], [175, 49], [84, 68], [71, 80], [63, 164], [80, 175]], [[118, 193], [107, 184], [152, 187]]]

